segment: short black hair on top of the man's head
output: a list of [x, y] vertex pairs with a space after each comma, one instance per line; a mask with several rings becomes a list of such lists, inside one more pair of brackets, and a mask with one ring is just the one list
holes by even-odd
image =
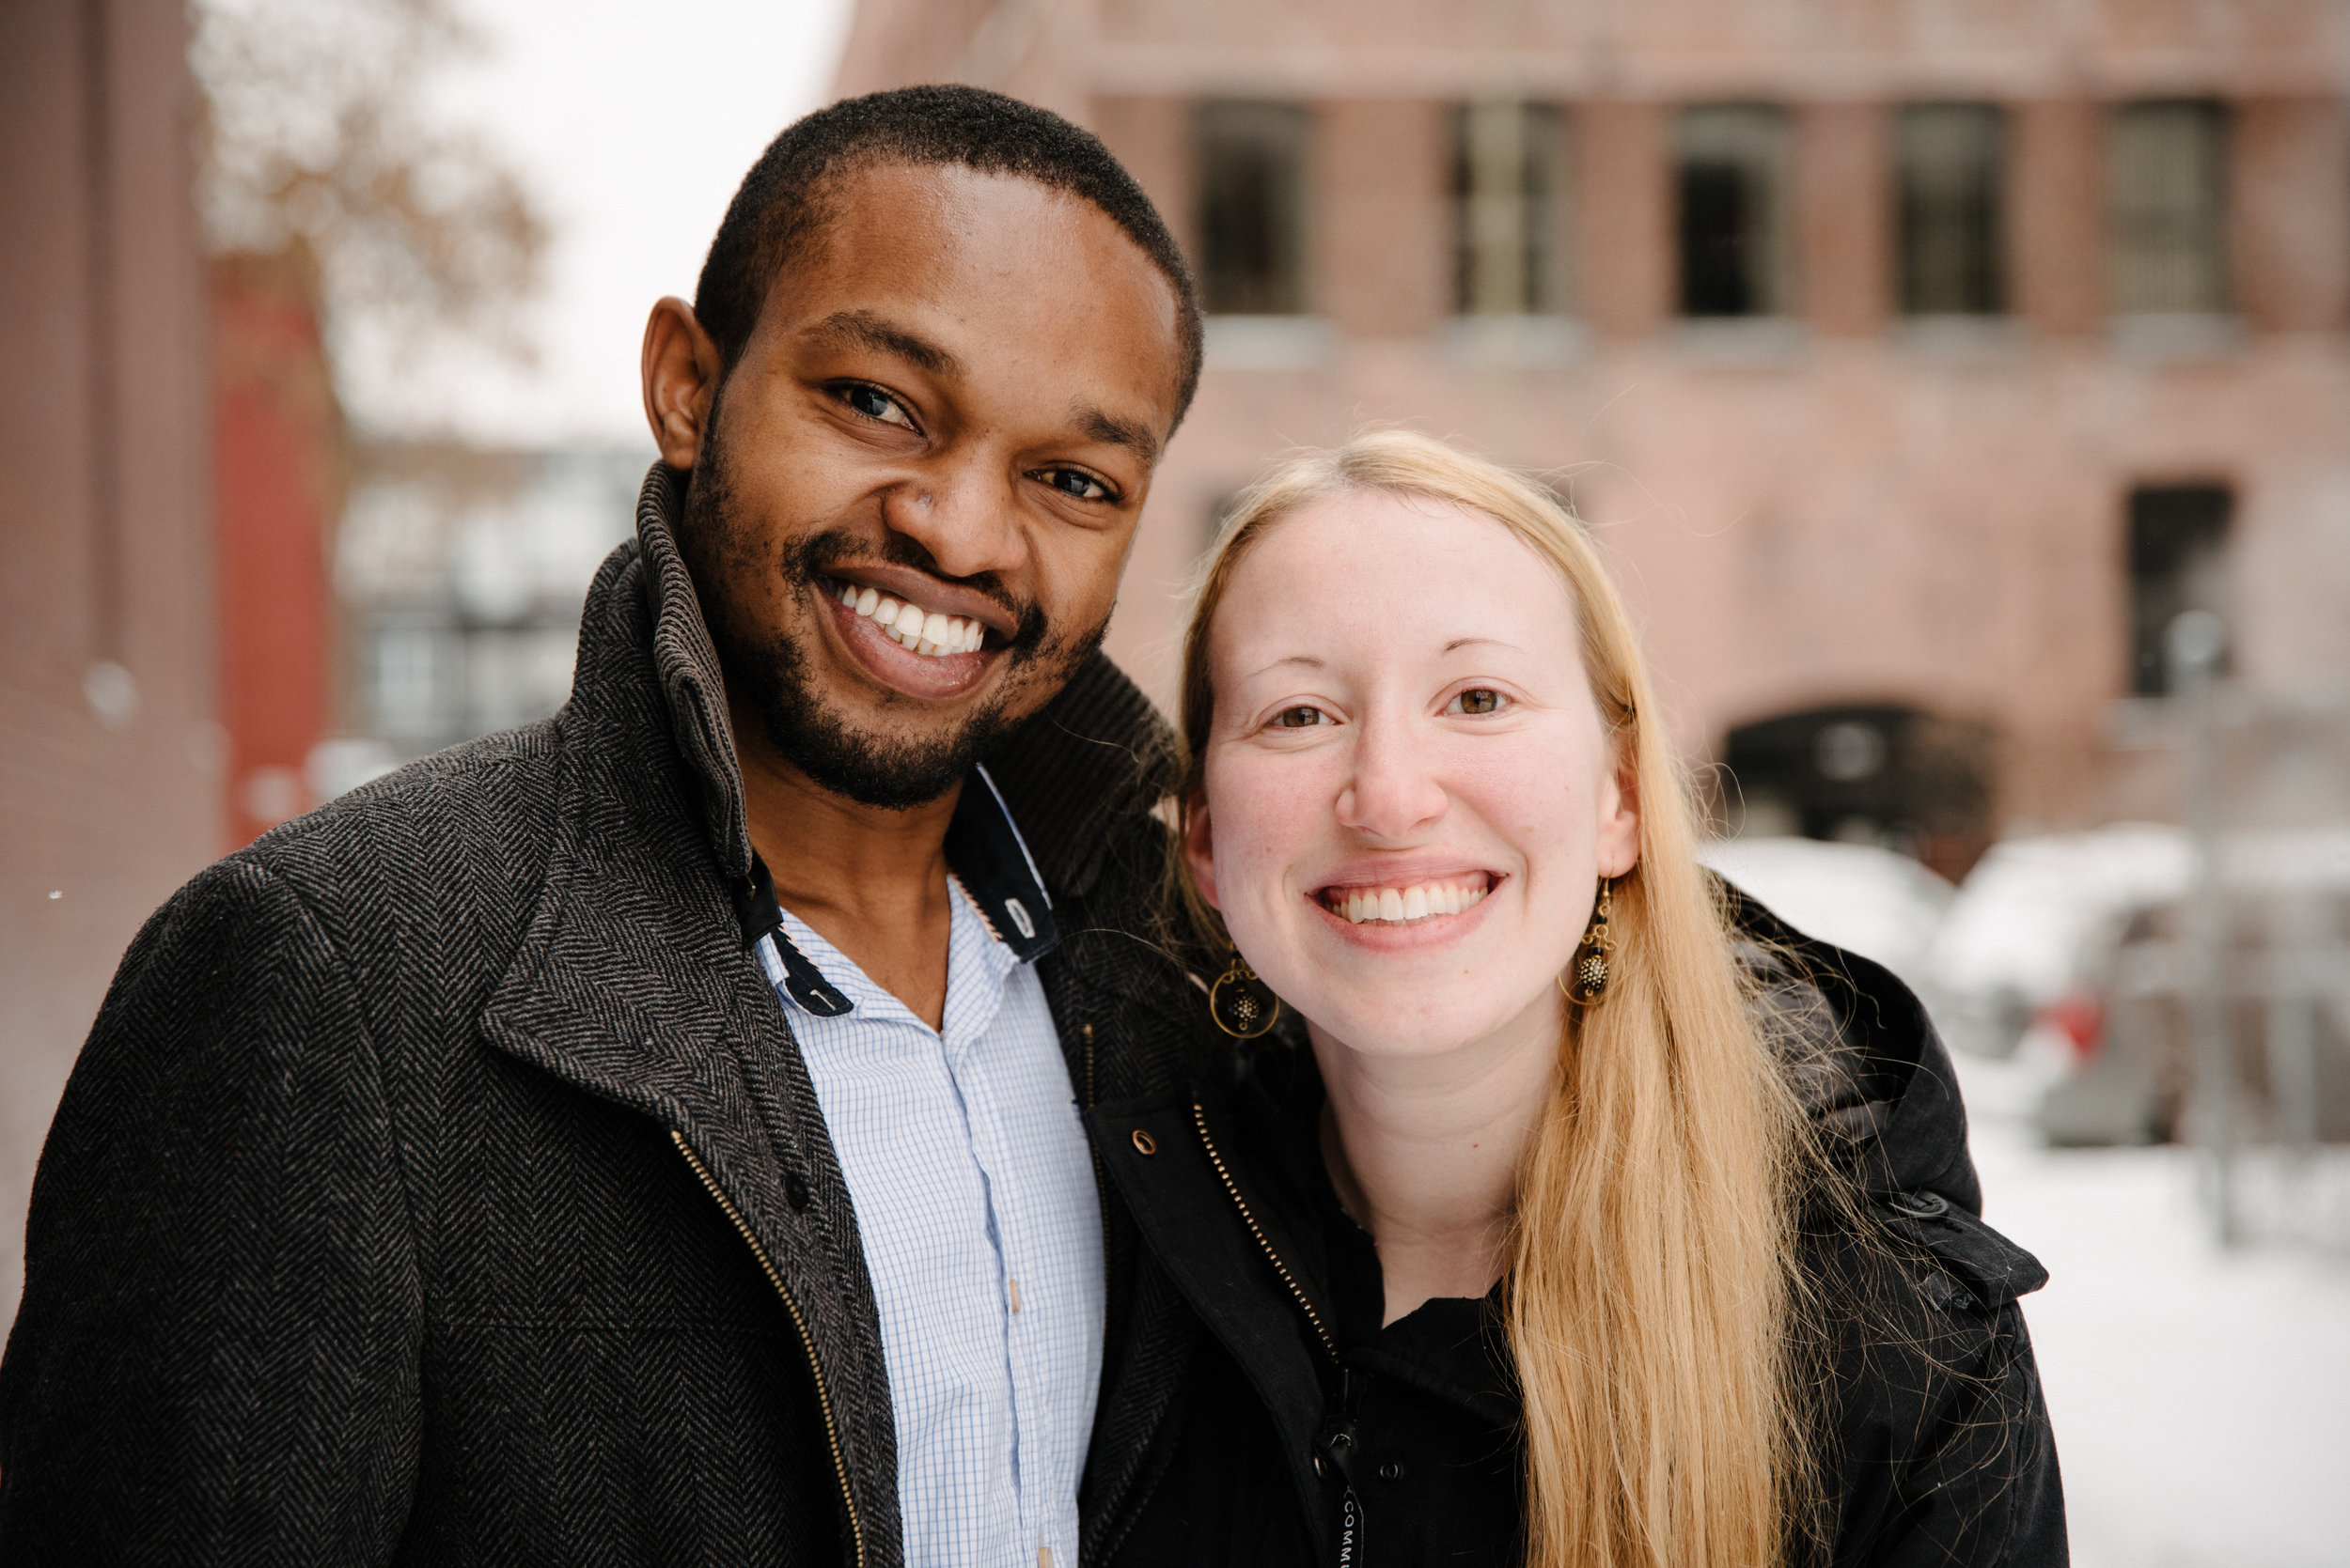
[[1198, 390], [1198, 289], [1166, 218], [1093, 131], [982, 87], [898, 87], [844, 99], [766, 143], [728, 202], [693, 286], [693, 315], [717, 343], [724, 369], [731, 371], [750, 343], [768, 284], [822, 228], [827, 183], [867, 164], [961, 164], [1029, 178], [1102, 209], [1175, 286], [1182, 347], [1175, 423], [1182, 423]]

